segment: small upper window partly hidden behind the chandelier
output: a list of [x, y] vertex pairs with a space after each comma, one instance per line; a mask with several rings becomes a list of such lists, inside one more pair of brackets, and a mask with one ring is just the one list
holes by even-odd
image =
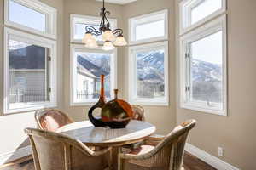
[[[86, 26], [94, 26], [97, 30], [100, 27], [101, 18], [93, 17], [93, 16], [86, 16], [86, 15], [79, 15], [79, 14], [71, 14], [71, 42], [82, 42], [82, 39], [85, 34], [85, 27]], [[112, 30], [117, 27], [117, 20], [115, 19], [108, 19], [110, 22], [110, 26], [112, 26]], [[97, 36], [96, 40], [102, 42], [102, 35]]]

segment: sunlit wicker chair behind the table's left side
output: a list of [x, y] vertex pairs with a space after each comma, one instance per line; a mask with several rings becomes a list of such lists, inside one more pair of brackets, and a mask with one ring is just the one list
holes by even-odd
[[40, 129], [52, 132], [69, 123], [73, 123], [73, 120], [65, 113], [54, 109], [36, 111], [35, 119]]

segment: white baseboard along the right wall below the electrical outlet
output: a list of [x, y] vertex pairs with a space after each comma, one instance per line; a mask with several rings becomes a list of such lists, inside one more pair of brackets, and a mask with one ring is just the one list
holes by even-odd
[[185, 150], [189, 152], [191, 155], [201, 159], [202, 161], [205, 161], [207, 164], [211, 165], [212, 167], [215, 167], [218, 170], [240, 170], [239, 168], [234, 167], [229, 163], [218, 159], [218, 157], [208, 154], [206, 151], [201, 150], [192, 144], [187, 143], [185, 146]]

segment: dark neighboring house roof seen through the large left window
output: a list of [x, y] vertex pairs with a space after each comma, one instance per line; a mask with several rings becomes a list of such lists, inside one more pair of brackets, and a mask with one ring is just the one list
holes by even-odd
[[45, 69], [46, 50], [35, 45], [10, 50], [10, 69]]

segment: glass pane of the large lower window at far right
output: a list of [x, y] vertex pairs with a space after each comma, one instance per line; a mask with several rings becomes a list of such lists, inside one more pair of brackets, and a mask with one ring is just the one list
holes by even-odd
[[191, 96], [209, 107], [223, 103], [223, 37], [222, 31], [190, 44]]

